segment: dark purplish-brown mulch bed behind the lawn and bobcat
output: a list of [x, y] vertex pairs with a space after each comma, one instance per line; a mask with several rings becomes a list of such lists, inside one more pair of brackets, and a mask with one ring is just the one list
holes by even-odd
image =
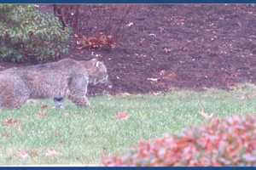
[[[51, 8], [42, 6], [48, 12]], [[125, 14], [127, 8], [130, 11]], [[77, 49], [72, 40], [67, 57], [90, 59], [102, 55], [113, 82], [113, 88], [108, 89], [112, 94], [172, 88], [228, 89], [238, 82], [256, 82], [254, 6], [84, 5], [80, 11], [81, 34], [119, 34], [117, 47]], [[90, 87], [89, 93], [99, 94], [104, 88]]]

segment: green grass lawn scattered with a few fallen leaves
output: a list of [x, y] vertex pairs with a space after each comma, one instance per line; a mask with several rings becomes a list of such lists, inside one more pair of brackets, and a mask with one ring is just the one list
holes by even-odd
[[[0, 114], [0, 164], [97, 164], [102, 156], [121, 154], [140, 139], [179, 133], [183, 127], [207, 122], [203, 107], [215, 117], [256, 112], [256, 87], [232, 91], [177, 90], [160, 95], [97, 96], [90, 108], [53, 109], [40, 100]], [[41, 109], [41, 105], [48, 105]], [[130, 117], [118, 120], [125, 111]]]

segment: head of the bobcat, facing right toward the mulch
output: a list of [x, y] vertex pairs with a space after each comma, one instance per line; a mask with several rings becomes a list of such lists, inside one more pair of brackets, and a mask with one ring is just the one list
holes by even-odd
[[109, 88], [112, 88], [111, 82], [108, 80], [108, 71], [106, 65], [102, 61], [97, 59], [90, 59], [83, 61], [84, 66], [89, 74], [89, 82], [93, 85], [98, 83], [107, 84]]

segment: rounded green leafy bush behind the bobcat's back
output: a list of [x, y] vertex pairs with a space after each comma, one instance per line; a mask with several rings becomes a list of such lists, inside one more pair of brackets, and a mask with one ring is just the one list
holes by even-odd
[[0, 5], [0, 59], [48, 60], [67, 54], [71, 30], [33, 5]]

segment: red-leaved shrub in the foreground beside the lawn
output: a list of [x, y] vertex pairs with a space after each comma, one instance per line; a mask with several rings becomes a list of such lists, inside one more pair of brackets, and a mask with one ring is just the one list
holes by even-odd
[[152, 142], [125, 156], [104, 158], [105, 166], [256, 166], [256, 116], [214, 119]]

